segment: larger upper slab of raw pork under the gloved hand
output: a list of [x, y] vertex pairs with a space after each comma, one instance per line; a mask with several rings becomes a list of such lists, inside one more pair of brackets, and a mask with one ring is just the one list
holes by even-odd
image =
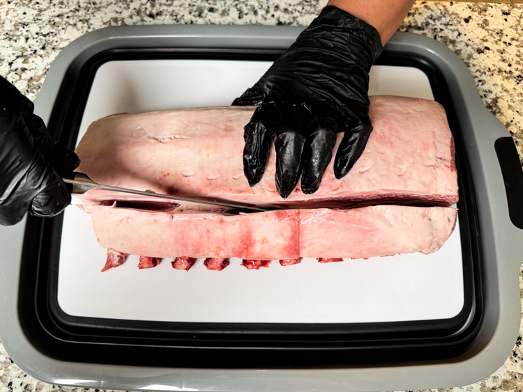
[[[102, 118], [91, 124], [76, 149], [82, 160], [77, 170], [107, 185], [293, 208], [448, 206], [457, 201], [453, 137], [437, 102], [370, 97], [374, 131], [354, 168], [337, 180], [331, 162], [317, 192], [303, 194], [298, 186], [285, 201], [275, 189], [274, 148], [261, 182], [251, 188], [243, 175], [243, 126], [254, 109], [215, 107]], [[333, 156], [342, 136], [338, 134]], [[92, 204], [136, 199], [96, 189], [83, 198]]]

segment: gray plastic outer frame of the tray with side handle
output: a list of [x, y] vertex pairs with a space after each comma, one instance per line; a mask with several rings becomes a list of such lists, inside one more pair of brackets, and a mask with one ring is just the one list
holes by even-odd
[[[122, 26], [86, 34], [63, 49], [36, 100], [47, 123], [61, 81], [107, 49], [204, 47], [285, 49], [301, 31], [280, 26]], [[52, 384], [148, 391], [381, 391], [471, 384], [492, 374], [513, 349], [520, 327], [518, 269], [523, 230], [510, 221], [494, 143], [510, 136], [480, 100], [467, 67], [448, 48], [410, 33], [396, 33], [388, 48], [426, 58], [445, 75], [457, 113], [479, 212], [485, 283], [485, 319], [473, 345], [450, 361], [321, 369], [178, 369], [107, 366], [52, 359], [31, 345], [17, 308], [24, 223], [0, 227], [0, 337], [15, 363]], [[22, 312], [23, 314], [23, 312]], [[488, 350], [487, 350], [488, 349]], [[102, 359], [103, 360], [103, 359]], [[144, 359], [146, 361], [146, 359]], [[266, 370], [266, 371], [260, 371]]]

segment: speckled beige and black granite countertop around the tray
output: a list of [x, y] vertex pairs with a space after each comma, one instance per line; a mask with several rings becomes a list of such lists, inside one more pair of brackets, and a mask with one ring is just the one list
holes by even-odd
[[[0, 2], [0, 75], [33, 100], [56, 55], [88, 31], [125, 24], [306, 26], [325, 3], [325, 0], [176, 0], [173, 5], [172, 0], [4, 0]], [[400, 30], [434, 38], [462, 58], [485, 107], [513, 134], [523, 162], [523, 5], [418, 2]], [[520, 288], [523, 293], [523, 272], [520, 272]], [[512, 354], [505, 363], [500, 363], [496, 373], [455, 390], [521, 391], [521, 340], [520, 329]], [[81, 389], [45, 384], [26, 375], [10, 360], [0, 343], [0, 392], [59, 390]]]

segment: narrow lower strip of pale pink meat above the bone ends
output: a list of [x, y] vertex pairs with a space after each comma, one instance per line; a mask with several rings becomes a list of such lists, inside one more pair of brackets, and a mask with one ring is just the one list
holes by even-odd
[[454, 208], [400, 205], [230, 216], [102, 205], [81, 208], [91, 214], [102, 246], [158, 258], [191, 255], [207, 258], [206, 263], [230, 257], [282, 260], [432, 253], [453, 232], [457, 219]]

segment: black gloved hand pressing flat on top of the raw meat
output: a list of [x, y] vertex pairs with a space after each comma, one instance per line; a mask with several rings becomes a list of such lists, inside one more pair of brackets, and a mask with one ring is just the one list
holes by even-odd
[[234, 100], [233, 105], [260, 105], [243, 136], [243, 171], [251, 187], [261, 180], [275, 134], [275, 182], [283, 198], [300, 174], [302, 191], [317, 191], [336, 132], [344, 138], [334, 173], [342, 178], [349, 172], [372, 132], [368, 74], [382, 49], [374, 27], [327, 6], [257, 84]]

